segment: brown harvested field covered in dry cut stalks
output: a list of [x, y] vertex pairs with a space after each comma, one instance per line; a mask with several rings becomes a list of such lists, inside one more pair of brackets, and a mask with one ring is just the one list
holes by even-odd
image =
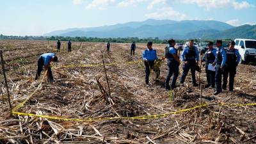
[[[161, 65], [161, 83], [154, 82], [153, 73], [152, 85], [146, 86], [143, 62], [127, 63], [141, 60], [145, 44], [137, 45], [135, 56], [130, 56], [130, 44], [111, 44], [109, 53], [106, 44], [101, 43], [73, 42], [69, 53], [67, 42], [62, 42], [60, 52], [56, 52], [55, 42], [47, 45], [48, 42], [40, 41], [0, 41], [13, 108], [28, 99], [17, 109], [20, 113], [109, 118], [164, 114], [200, 105], [200, 88], [192, 86], [190, 76], [185, 86], [172, 94], [164, 90], [165, 61]], [[164, 56], [165, 45], [153, 47], [159, 58]], [[55, 81], [50, 83], [43, 75], [35, 81], [38, 56], [49, 51], [56, 52], [60, 60], [53, 63]], [[106, 66], [111, 96], [102, 65], [63, 67], [102, 64], [100, 51], [104, 51], [106, 63], [117, 63]], [[0, 143], [256, 143], [256, 107], [230, 105], [256, 103], [255, 66], [239, 65], [232, 93], [224, 91], [214, 96], [213, 89], [203, 89], [202, 104], [211, 106], [149, 120], [83, 122], [24, 115], [10, 117], [3, 72], [0, 72]], [[181, 72], [180, 68], [180, 75]]]

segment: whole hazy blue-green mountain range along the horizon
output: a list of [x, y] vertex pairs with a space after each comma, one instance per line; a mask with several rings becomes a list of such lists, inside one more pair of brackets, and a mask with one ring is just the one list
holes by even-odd
[[155, 20], [127, 22], [96, 28], [70, 28], [44, 36], [86, 36], [98, 38], [256, 38], [256, 25], [231, 26], [216, 20]]

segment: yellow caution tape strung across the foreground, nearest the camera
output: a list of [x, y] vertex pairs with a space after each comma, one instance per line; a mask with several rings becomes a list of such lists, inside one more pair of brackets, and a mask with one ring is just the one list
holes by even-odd
[[179, 113], [184, 113], [186, 111], [191, 111], [194, 109], [198, 108], [203, 108], [207, 106], [212, 106], [212, 105], [219, 105], [219, 106], [256, 106], [256, 103], [253, 104], [202, 104], [199, 106], [195, 106], [193, 108], [188, 108], [188, 109], [180, 109], [179, 111], [173, 111], [170, 113], [164, 113], [164, 114], [157, 114], [157, 115], [145, 115], [145, 116], [133, 116], [133, 117], [99, 117], [99, 118], [65, 118], [62, 116], [49, 116], [49, 115], [35, 115], [31, 113], [19, 113], [19, 112], [14, 112], [13, 115], [23, 115], [23, 116], [35, 116], [35, 117], [40, 117], [40, 118], [49, 118], [52, 120], [63, 120], [63, 121], [78, 121], [78, 122], [92, 122], [92, 121], [102, 121], [102, 120], [148, 120], [148, 119], [156, 119], [156, 118], [164, 118], [166, 116], [170, 115], [177, 115]]

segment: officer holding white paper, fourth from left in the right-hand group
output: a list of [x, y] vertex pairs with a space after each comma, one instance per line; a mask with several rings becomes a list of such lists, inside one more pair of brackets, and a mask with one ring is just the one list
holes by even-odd
[[205, 55], [203, 57], [203, 61], [205, 61], [205, 73], [207, 77], [207, 85], [205, 88], [208, 88], [209, 86], [212, 86], [212, 88], [215, 87], [215, 71], [209, 70], [208, 66], [211, 63], [214, 63], [216, 58], [216, 52], [217, 50], [213, 48], [213, 42], [209, 42], [208, 44], [209, 49], [205, 52]]

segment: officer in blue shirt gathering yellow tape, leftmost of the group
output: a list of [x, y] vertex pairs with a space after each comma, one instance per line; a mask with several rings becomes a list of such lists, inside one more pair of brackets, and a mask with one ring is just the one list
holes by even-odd
[[146, 67], [146, 77], [145, 77], [145, 82], [146, 84], [149, 84], [149, 75], [150, 75], [150, 71], [153, 69], [154, 72], [156, 72], [156, 81], [158, 81], [158, 77], [160, 75], [160, 70], [157, 68], [153, 68], [154, 67], [154, 62], [155, 60], [158, 60], [157, 58], [157, 54], [156, 54], [156, 50], [152, 48], [152, 42], [148, 42], [147, 44], [147, 49], [145, 51], [143, 51], [143, 60], [145, 63], [145, 67]]

